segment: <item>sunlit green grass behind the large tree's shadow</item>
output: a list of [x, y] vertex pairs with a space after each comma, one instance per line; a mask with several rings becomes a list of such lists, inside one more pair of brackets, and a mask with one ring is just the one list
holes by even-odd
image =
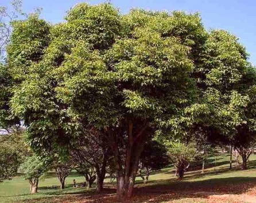
[[[149, 177], [149, 184], [145, 188], [156, 187], [156, 185], [169, 186], [171, 189], [184, 189], [192, 186], [214, 186], [224, 184], [239, 184], [240, 182], [245, 183], [246, 181], [256, 182], [256, 155], [251, 155], [248, 163], [249, 170], [239, 170], [234, 167], [232, 170], [228, 170], [229, 167], [229, 156], [223, 154], [218, 157], [211, 157], [208, 159], [205, 173], [201, 174], [200, 170], [188, 171], [185, 173], [183, 181], [176, 181], [174, 177], [174, 170], [172, 167], [166, 167], [161, 171], [152, 173]], [[55, 174], [49, 174], [48, 177], [40, 179], [38, 185], [38, 193], [29, 193], [29, 182], [26, 181], [22, 176], [14, 177], [11, 180], [0, 183], [0, 202], [45, 202], [49, 198], [49, 201], [53, 197], [61, 198], [72, 194], [86, 194], [90, 193], [91, 190], [85, 188], [74, 189], [72, 187], [73, 179], [76, 179], [77, 183], [82, 184], [84, 177], [72, 173], [67, 177], [64, 190], [47, 189], [47, 186], [57, 185], [59, 181]], [[136, 178], [137, 184], [141, 184], [141, 178]], [[108, 182], [108, 179], [105, 180]], [[143, 185], [142, 185], [143, 186]], [[231, 191], [232, 192], [232, 191]], [[43, 201], [44, 200], [44, 201]]]

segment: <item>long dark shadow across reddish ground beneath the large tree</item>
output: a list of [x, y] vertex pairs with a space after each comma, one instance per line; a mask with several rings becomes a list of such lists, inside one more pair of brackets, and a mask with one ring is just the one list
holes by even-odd
[[[208, 198], [212, 194], [243, 194], [255, 187], [256, 178], [254, 177], [211, 178], [193, 182], [165, 179], [149, 181], [148, 185], [136, 185], [133, 197], [122, 202], [163, 202], [184, 198]], [[63, 193], [61, 196], [57, 194], [54, 197], [33, 198], [25, 202], [120, 202], [117, 200], [113, 186], [105, 188], [102, 193], [91, 190], [67, 194], [69, 193]]]

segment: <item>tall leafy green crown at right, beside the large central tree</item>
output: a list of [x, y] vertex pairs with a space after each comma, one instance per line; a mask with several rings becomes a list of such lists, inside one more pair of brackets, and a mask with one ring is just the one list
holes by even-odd
[[[195, 132], [203, 129], [203, 135], [206, 139], [210, 136], [211, 142], [222, 140], [218, 145], [234, 147], [237, 141], [236, 145], [243, 142], [248, 148], [255, 135], [255, 100], [251, 94], [256, 81], [255, 69], [247, 61], [248, 54], [238, 38], [225, 30], [211, 30], [202, 49], [198, 58], [201, 62], [193, 77], [197, 77], [201, 101], [210, 114], [195, 119]], [[239, 132], [240, 128], [247, 128], [251, 134]]]

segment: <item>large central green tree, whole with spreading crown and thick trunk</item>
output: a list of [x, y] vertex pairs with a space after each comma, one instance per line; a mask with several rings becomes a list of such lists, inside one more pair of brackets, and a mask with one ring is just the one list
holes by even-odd
[[8, 56], [23, 81], [13, 111], [44, 152], [65, 146], [80, 127], [104, 130], [118, 196], [131, 196], [143, 143], [191, 102], [190, 52], [203, 26], [197, 14], [121, 15], [109, 3], [79, 4], [66, 19], [51, 29], [35, 16], [14, 24]]

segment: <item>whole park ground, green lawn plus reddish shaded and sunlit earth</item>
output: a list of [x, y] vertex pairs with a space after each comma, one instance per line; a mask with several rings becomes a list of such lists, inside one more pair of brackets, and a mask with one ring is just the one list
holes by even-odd
[[[127, 202], [256, 202], [256, 155], [250, 157], [248, 170], [229, 170], [228, 162], [228, 154], [211, 157], [204, 174], [200, 170], [188, 171], [183, 181], [176, 180], [173, 167], [154, 172], [147, 185], [138, 177], [134, 197]], [[79, 184], [84, 181], [73, 172], [65, 181], [66, 189], [47, 189], [59, 186], [51, 173], [40, 179], [37, 194], [29, 194], [28, 181], [17, 176], [0, 184], [0, 202], [117, 202], [115, 183], [110, 184], [109, 179], [100, 194], [94, 189], [74, 189], [73, 179]]]

